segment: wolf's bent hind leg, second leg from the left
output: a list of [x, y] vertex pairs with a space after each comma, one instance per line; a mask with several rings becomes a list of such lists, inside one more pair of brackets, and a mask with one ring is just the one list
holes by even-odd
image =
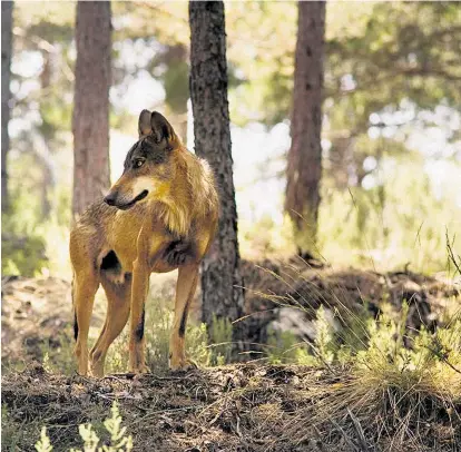
[[117, 284], [102, 273], [101, 285], [107, 296], [106, 322], [90, 353], [91, 373], [99, 377], [104, 376], [104, 365], [110, 344], [118, 337], [128, 321], [131, 279], [126, 276], [122, 284]]

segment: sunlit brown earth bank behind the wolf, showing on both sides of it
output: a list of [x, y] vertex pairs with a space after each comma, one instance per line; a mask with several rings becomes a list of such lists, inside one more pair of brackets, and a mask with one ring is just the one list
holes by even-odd
[[[357, 269], [334, 271], [315, 267], [301, 259], [285, 262], [243, 261], [246, 287], [245, 330], [248, 343], [264, 344], [267, 332], [288, 331], [302, 340], [315, 337], [315, 312], [325, 307], [327, 320], [339, 330], [352, 315], [372, 315], [383, 304], [400, 315], [403, 301], [409, 304], [406, 326], [433, 328], [443, 322], [447, 303], [461, 302], [457, 285], [412, 272], [379, 274]], [[175, 275], [151, 278], [151, 293], [174, 297]], [[199, 318], [199, 291], [195, 297], [195, 317]], [[105, 302], [97, 299], [97, 306]], [[171, 302], [173, 307], [173, 302]], [[95, 309], [101, 325], [104, 311]], [[46, 344], [58, 347], [65, 335], [71, 336], [70, 284], [56, 277], [2, 279], [2, 364], [42, 358]], [[258, 346], [253, 345], [257, 351]]]

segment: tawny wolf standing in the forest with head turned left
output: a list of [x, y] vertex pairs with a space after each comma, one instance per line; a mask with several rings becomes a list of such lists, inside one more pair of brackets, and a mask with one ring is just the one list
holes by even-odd
[[[178, 269], [169, 367], [185, 370], [187, 315], [200, 262], [219, 218], [215, 178], [188, 151], [159, 112], [143, 110], [139, 139], [107, 196], [95, 202], [70, 233], [75, 354], [78, 373], [104, 376], [107, 351], [129, 318], [129, 372], [145, 373], [145, 304], [151, 273]], [[81, 180], [85, 184], [85, 180]], [[88, 353], [95, 294], [102, 286], [107, 315]]]

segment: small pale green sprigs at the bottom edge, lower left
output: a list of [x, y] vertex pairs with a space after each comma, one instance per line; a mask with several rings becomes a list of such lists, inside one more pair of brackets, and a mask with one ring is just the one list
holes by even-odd
[[[104, 422], [104, 426], [110, 435], [108, 445], [99, 445], [99, 438], [91, 424], [79, 425], [79, 434], [84, 441], [84, 450], [70, 449], [69, 452], [129, 452], [133, 450], [133, 438], [127, 434], [127, 428], [121, 426], [121, 416], [117, 402], [111, 407], [111, 416]], [[40, 440], [36, 443], [37, 452], [51, 452], [52, 445], [43, 426], [40, 433]]]

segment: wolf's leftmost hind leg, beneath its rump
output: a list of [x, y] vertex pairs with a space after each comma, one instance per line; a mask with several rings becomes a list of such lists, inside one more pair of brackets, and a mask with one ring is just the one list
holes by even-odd
[[95, 295], [99, 278], [95, 272], [76, 272], [72, 281], [72, 299], [75, 311], [73, 332], [76, 337], [75, 354], [78, 373], [88, 374], [88, 331], [91, 321]]

